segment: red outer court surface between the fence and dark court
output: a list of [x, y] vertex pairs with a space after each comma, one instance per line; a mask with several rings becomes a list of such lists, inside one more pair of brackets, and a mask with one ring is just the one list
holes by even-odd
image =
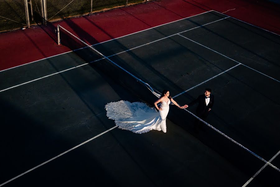
[[96, 44], [210, 10], [280, 34], [280, 6], [275, 3], [263, 0], [159, 0], [0, 34], [0, 70], [70, 51], [57, 45], [54, 31], [58, 24], [89, 44]]

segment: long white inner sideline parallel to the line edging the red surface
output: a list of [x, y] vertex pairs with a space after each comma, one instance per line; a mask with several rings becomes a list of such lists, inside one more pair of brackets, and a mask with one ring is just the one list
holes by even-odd
[[[210, 23], [206, 23], [206, 24], [201, 25], [201, 26], [194, 27], [194, 28], [188, 29], [188, 30], [186, 30], [186, 31], [190, 31], [190, 30], [196, 29], [196, 28], [198, 28], [198, 27], [202, 27], [202, 26], [205, 26], [205, 25], [208, 25], [208, 24], [214, 23], [214, 22], [218, 22], [218, 21], [223, 20], [223, 19], [226, 19], [226, 18], [228, 18], [228, 17], [225, 17], [225, 18], [222, 18], [222, 19], [219, 19], [219, 20], [216, 20], [216, 21], [210, 22]], [[173, 34], [173, 35], [170, 35], [170, 36], [166, 36], [166, 37], [164, 37], [164, 38], [161, 38], [161, 39], [158, 39], [158, 40], [155, 40], [155, 41], [152, 41], [152, 42], [149, 42], [149, 43], [143, 44], [143, 45], [141, 45], [141, 46], [137, 46], [137, 47], [134, 47], [134, 48], [131, 48], [131, 49], [128, 49], [128, 50], [125, 50], [125, 51], [122, 51], [122, 52], [116, 53], [116, 54], [114, 54], [114, 55], [119, 55], [119, 54], [121, 54], [121, 53], [124, 53], [124, 52], [130, 51], [130, 50], [133, 50], [133, 49], [136, 49], [136, 48], [138, 48], [138, 47], [142, 47], [142, 46], [145, 46], [145, 45], [148, 45], [148, 44], [151, 44], [151, 43], [154, 43], [154, 42], [156, 42], [156, 41], [160, 41], [160, 40], [163, 40], [163, 39], [169, 38], [169, 37], [171, 37], [171, 36], [175, 36], [175, 35], [177, 35], [177, 34], [180, 34], [180, 33], [186, 32], [186, 31], [178, 32], [178, 33], [176, 33], [176, 34]], [[180, 36], [181, 36], [181, 35], [180, 35]], [[114, 56], [114, 55], [110, 55], [110, 56], [106, 56], [106, 57], [107, 57], [107, 58], [109, 58], [109, 57]], [[105, 59], [105, 58], [100, 58], [100, 59], [98, 59], [98, 60], [102, 60], [102, 59]], [[92, 61], [92, 62], [96, 62], [96, 61], [98, 61], [98, 60], [94, 60], [94, 61]], [[92, 62], [89, 62], [89, 63], [92, 63]], [[57, 73], [53, 73], [53, 74], [50, 74], [50, 75], [46, 75], [46, 76], [44, 76], [44, 77], [40, 77], [40, 78], [38, 78], [38, 79], [30, 80], [30, 81], [28, 81], [28, 82], [25, 82], [25, 83], [22, 83], [22, 84], [15, 85], [15, 86], [12, 86], [12, 87], [10, 87], [10, 88], [6, 88], [6, 89], [3, 89], [3, 90], [0, 90], [0, 92], [3, 92], [3, 91], [8, 90], [8, 89], [15, 88], [15, 87], [18, 87], [18, 86], [21, 86], [21, 85], [23, 85], [23, 84], [27, 84], [27, 83], [30, 83], [30, 82], [33, 82], [33, 81], [36, 81], [36, 80], [44, 79], [44, 78], [46, 78], [46, 77], [49, 77], [49, 76], [52, 76], [52, 75], [55, 75], [55, 74], [59, 74], [59, 73], [64, 72], [64, 71], [72, 70], [72, 69], [74, 69], [74, 68], [81, 67], [81, 66], [83, 66], [83, 65], [87, 65], [87, 64], [89, 64], [89, 63], [85, 63], [85, 64], [82, 64], [82, 65], [78, 65], [78, 66], [75, 66], [75, 67], [69, 68], [69, 69], [67, 69], [67, 70], [63, 70], [63, 71], [59, 71], [59, 72], [57, 72]]]

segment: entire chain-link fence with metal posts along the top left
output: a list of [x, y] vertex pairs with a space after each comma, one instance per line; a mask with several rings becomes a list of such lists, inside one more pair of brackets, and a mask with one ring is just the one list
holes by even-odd
[[0, 0], [0, 32], [145, 1], [147, 0]]

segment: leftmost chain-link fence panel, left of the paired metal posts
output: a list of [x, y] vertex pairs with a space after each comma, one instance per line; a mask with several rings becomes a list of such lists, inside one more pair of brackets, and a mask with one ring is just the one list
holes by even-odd
[[27, 27], [25, 0], [0, 0], [0, 32]]

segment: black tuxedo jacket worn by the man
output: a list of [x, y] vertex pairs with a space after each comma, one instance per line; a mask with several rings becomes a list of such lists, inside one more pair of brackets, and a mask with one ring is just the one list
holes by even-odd
[[197, 99], [193, 100], [188, 104], [188, 106], [192, 106], [194, 104], [198, 103], [198, 107], [196, 108], [196, 113], [198, 115], [203, 114], [205, 112], [208, 112], [208, 109], [213, 107], [214, 105], [214, 95], [210, 94], [210, 101], [208, 105], [206, 106], [205, 102], [205, 95], [199, 95]]

